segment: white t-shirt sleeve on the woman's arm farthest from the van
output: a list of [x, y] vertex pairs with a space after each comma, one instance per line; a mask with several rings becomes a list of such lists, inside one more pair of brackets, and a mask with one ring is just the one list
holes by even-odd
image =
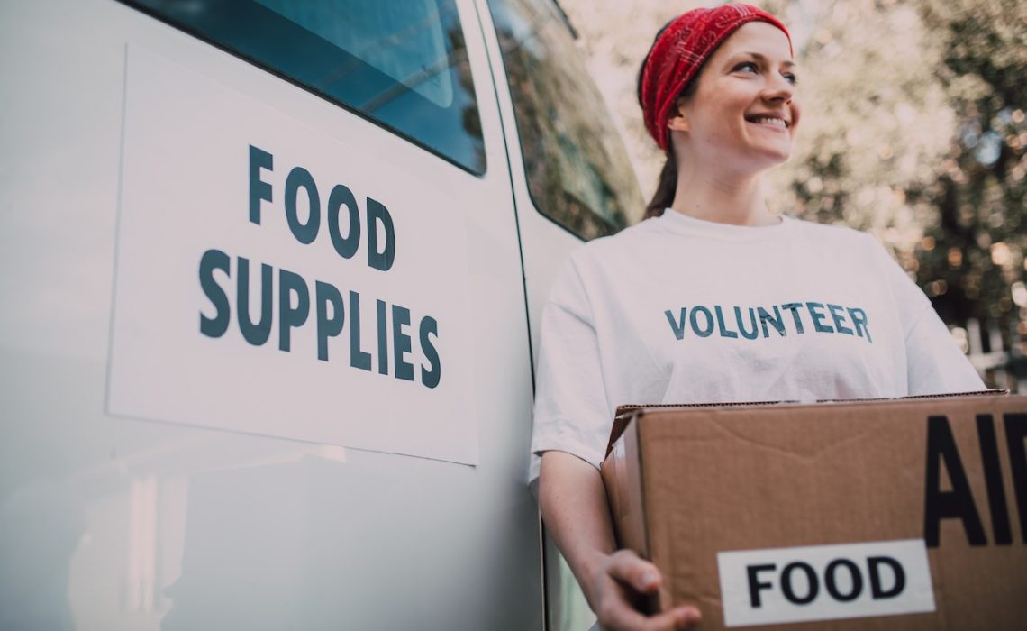
[[[875, 244], [876, 245], [876, 244]], [[981, 376], [956, 345], [930, 300], [882, 247], [888, 284], [895, 295], [906, 339], [910, 395], [943, 395], [985, 389]]]

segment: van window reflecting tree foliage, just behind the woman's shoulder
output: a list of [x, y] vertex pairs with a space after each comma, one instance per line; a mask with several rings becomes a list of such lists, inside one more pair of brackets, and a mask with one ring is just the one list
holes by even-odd
[[535, 207], [585, 239], [640, 219], [631, 161], [559, 7], [489, 0], [489, 8]]

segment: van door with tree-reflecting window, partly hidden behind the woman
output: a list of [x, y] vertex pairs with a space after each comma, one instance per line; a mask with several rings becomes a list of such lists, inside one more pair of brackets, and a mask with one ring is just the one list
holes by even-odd
[[[531, 340], [570, 251], [641, 220], [644, 202], [626, 151], [589, 79], [573, 30], [553, 0], [487, 0], [521, 247]], [[488, 26], [486, 28], [489, 28]], [[514, 124], [509, 124], [512, 121]], [[538, 475], [533, 457], [529, 479]], [[596, 617], [551, 540], [545, 539], [549, 628], [580, 631]]]

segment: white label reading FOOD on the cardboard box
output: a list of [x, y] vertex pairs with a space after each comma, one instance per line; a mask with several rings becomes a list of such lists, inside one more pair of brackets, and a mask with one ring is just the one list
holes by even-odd
[[717, 565], [728, 627], [935, 610], [923, 540], [720, 552]]

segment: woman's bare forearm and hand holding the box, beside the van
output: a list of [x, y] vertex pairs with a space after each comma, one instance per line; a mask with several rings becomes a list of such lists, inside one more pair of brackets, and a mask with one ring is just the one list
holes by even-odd
[[634, 593], [652, 593], [661, 577], [629, 550], [616, 550], [606, 489], [596, 468], [563, 451], [542, 454], [538, 504], [545, 527], [607, 631], [690, 629], [699, 611], [682, 606], [647, 618], [630, 604]]

